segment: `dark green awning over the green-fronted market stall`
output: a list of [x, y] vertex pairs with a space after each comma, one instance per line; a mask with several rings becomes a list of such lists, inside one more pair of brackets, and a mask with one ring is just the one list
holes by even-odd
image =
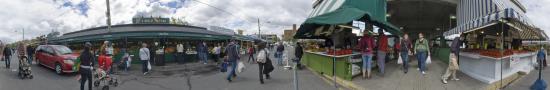
[[[402, 32], [386, 21], [386, 0], [320, 0], [300, 26], [294, 38], [326, 38], [319, 30], [334, 25], [349, 25], [354, 20], [378, 26], [393, 35]], [[323, 28], [323, 29], [319, 29]]]

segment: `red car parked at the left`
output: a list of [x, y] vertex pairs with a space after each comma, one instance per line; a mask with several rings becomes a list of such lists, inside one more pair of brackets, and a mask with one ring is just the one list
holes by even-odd
[[40, 45], [35, 57], [39, 65], [55, 70], [57, 74], [72, 73], [74, 60], [78, 57], [71, 49], [62, 45]]

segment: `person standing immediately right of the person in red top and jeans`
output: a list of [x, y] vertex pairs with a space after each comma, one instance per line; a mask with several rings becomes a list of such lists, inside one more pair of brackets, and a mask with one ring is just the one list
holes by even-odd
[[378, 70], [380, 75], [384, 76], [384, 66], [386, 64], [386, 53], [388, 52], [388, 37], [384, 34], [384, 30], [378, 29], [378, 51], [376, 53]]

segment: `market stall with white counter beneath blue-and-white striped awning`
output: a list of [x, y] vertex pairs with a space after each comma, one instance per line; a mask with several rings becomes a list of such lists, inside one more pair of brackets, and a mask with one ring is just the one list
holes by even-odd
[[[483, 4], [480, 4], [482, 1], [461, 2], [457, 18], [459, 25], [444, 35], [460, 34], [464, 38], [465, 48], [459, 52], [461, 72], [489, 84], [509, 83], [504, 79], [518, 72], [529, 73], [536, 60], [536, 51], [520, 48], [521, 41], [546, 40], [546, 36], [528, 22], [521, 6], [514, 6], [516, 4], [506, 0], [492, 1]], [[471, 8], [470, 5], [484, 8]]]

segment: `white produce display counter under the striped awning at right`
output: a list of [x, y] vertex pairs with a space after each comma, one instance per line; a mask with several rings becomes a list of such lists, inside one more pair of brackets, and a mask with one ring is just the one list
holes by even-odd
[[520, 71], [528, 73], [533, 70], [532, 62], [536, 60], [534, 52], [513, 54], [501, 58], [482, 56], [472, 52], [460, 52], [459, 56], [461, 72], [489, 84], [501, 79], [501, 71], [503, 78]]

